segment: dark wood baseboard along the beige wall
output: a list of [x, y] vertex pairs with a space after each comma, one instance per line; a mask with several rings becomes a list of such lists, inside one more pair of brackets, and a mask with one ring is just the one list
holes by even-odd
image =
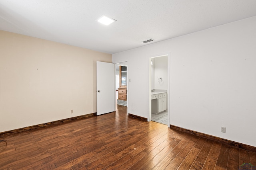
[[32, 125], [32, 126], [28, 126], [28, 127], [23, 127], [20, 129], [14, 129], [11, 131], [5, 131], [5, 132], [0, 132], [0, 135], [12, 135], [14, 133], [19, 133], [19, 132], [24, 132], [24, 131], [29, 131], [29, 130], [33, 130], [33, 129], [38, 129], [38, 128], [42, 128], [42, 127], [47, 127], [47, 126], [51, 126], [51, 125], [56, 125], [56, 124], [60, 124], [60, 123], [65, 123], [68, 121], [75, 121], [78, 119], [85, 119], [87, 117], [91, 117], [96, 115], [96, 113], [90, 113], [90, 114], [86, 114], [86, 115], [81, 115], [81, 116], [76, 116], [76, 117], [70, 117], [67, 119], [61, 119], [61, 120], [57, 120], [57, 121], [52, 121], [52, 122], [48, 122], [48, 123], [42, 123], [39, 125]]

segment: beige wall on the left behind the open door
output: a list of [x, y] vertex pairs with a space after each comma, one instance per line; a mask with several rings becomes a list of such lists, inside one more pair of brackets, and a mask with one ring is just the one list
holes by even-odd
[[112, 55], [0, 31], [0, 132], [96, 112], [96, 61]]

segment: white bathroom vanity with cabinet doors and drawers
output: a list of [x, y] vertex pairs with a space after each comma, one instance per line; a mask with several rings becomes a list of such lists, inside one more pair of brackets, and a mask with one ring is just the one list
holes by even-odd
[[166, 110], [166, 92], [152, 92], [151, 93], [151, 112], [160, 113]]

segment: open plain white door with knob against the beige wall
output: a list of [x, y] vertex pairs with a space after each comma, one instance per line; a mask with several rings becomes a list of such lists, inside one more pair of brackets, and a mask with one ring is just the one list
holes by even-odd
[[97, 115], [115, 109], [114, 64], [96, 62], [97, 70]]

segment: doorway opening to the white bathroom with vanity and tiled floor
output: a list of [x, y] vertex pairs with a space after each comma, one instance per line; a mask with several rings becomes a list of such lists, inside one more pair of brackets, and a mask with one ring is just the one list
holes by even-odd
[[170, 127], [170, 55], [151, 57], [149, 64], [149, 120]]

